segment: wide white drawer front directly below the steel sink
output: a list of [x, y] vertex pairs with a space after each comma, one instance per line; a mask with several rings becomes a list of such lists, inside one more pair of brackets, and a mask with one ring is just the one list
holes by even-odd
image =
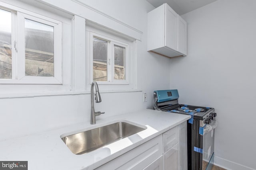
[[162, 155], [162, 135], [126, 152], [97, 170], [143, 169]]

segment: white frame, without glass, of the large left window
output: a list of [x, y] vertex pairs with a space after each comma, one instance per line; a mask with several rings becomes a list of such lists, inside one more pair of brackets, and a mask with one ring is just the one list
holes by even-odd
[[[0, 84], [62, 84], [62, 22], [27, 10], [0, 4], [0, 8], [12, 12], [12, 79], [0, 79]], [[54, 27], [54, 76], [25, 75], [25, 27], [26, 19]]]

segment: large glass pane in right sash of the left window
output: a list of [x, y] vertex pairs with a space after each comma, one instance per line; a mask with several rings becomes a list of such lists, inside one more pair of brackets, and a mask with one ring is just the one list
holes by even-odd
[[54, 76], [54, 27], [25, 19], [26, 76]]

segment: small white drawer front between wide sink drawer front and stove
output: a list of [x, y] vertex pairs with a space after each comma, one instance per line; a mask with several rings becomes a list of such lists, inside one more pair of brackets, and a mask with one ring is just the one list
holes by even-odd
[[178, 126], [163, 133], [163, 153], [178, 143]]

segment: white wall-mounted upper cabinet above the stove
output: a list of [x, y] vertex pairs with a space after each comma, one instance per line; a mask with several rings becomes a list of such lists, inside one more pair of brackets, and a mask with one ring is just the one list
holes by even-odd
[[147, 50], [167, 57], [187, 55], [187, 23], [166, 3], [148, 12]]

